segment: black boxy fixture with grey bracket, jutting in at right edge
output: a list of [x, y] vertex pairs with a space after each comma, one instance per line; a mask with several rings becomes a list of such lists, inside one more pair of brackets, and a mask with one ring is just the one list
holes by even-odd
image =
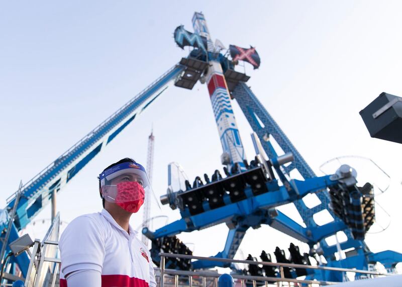
[[360, 116], [371, 137], [402, 143], [402, 98], [382, 92]]

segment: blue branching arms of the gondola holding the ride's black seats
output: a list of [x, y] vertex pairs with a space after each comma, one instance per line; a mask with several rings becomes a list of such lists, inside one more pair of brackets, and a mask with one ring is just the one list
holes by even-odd
[[[334, 232], [344, 230], [346, 225], [342, 221], [334, 221], [316, 227], [312, 232], [311, 228], [303, 227], [279, 211], [275, 211], [275, 216], [271, 216], [269, 211], [274, 207], [301, 199], [307, 194], [338, 184], [339, 182], [331, 180], [329, 175], [305, 180], [292, 179], [289, 181], [288, 187], [279, 186], [276, 180], [272, 180], [266, 183], [269, 191], [258, 196], [253, 196], [251, 187], [247, 186], [245, 194], [248, 197], [245, 200], [231, 203], [229, 196], [224, 195], [225, 206], [211, 210], [208, 202], [205, 201], [203, 202], [205, 212], [197, 215], [191, 215], [188, 208], [185, 208], [180, 211], [181, 219], [149, 234], [151, 234], [151, 238], [156, 239], [226, 223], [234, 228], [229, 230], [224, 250], [214, 256], [219, 258], [233, 258], [246, 230], [261, 224], [270, 225], [300, 241], [313, 245]], [[228, 267], [229, 265], [213, 261], [193, 262], [195, 269], [213, 266]]]

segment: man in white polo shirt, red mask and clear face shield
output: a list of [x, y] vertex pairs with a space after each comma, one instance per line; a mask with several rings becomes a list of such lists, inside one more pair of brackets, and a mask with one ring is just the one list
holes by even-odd
[[144, 167], [124, 158], [99, 174], [102, 212], [74, 219], [59, 242], [60, 287], [155, 287], [147, 247], [129, 225], [151, 185]]

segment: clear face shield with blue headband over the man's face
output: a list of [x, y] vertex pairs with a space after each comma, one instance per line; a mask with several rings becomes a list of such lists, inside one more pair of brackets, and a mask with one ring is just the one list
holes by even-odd
[[[118, 181], [114, 181], [115, 178]], [[108, 202], [116, 203], [124, 209], [136, 210], [134, 206], [139, 209], [144, 200], [153, 198], [160, 208], [145, 168], [139, 163], [123, 162], [115, 165], [99, 174], [99, 180], [102, 195]]]

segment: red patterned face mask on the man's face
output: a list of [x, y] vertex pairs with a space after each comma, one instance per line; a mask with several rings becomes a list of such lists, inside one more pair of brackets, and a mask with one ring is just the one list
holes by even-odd
[[123, 181], [117, 184], [116, 204], [125, 211], [136, 213], [144, 203], [145, 191], [136, 181]]

